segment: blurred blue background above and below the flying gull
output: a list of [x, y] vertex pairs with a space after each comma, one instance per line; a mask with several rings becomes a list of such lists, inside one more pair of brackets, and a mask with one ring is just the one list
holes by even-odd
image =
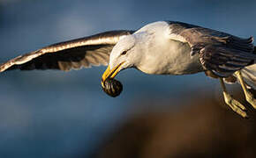
[[[255, 37], [255, 6], [253, 0], [0, 0], [0, 62], [56, 42], [165, 19]], [[142, 98], [171, 97], [182, 104], [189, 91], [220, 92], [218, 81], [202, 73], [144, 75], [130, 69], [117, 76], [123, 93], [111, 98], [100, 87], [104, 69], [0, 74], [0, 157], [89, 156], [138, 111], [166, 108], [135, 107]]]

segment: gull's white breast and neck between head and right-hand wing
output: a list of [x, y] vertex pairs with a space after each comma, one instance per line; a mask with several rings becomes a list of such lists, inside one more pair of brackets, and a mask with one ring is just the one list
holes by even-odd
[[159, 75], [184, 75], [202, 71], [198, 55], [190, 55], [190, 46], [170, 39], [169, 25], [166, 22], [146, 25], [137, 33], [139, 32], [147, 32], [147, 35], [139, 37], [144, 41], [140, 46], [144, 59], [137, 66], [139, 70]]

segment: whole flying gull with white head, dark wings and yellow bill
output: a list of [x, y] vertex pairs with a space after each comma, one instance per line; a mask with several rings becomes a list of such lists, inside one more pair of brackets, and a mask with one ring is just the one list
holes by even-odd
[[147, 74], [187, 75], [205, 72], [218, 78], [225, 103], [242, 117], [245, 106], [230, 96], [225, 83], [240, 83], [248, 103], [256, 109], [256, 48], [253, 39], [176, 21], [158, 21], [137, 31], [102, 32], [42, 47], [0, 65], [11, 69], [71, 69], [108, 65], [102, 87], [125, 68]]

